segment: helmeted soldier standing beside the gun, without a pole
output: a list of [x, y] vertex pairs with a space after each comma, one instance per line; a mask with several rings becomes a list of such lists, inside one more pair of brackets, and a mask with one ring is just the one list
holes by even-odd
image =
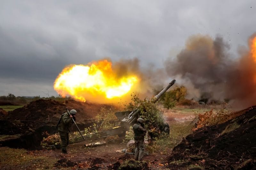
[[144, 129], [145, 121], [142, 118], [137, 120], [132, 126], [134, 132], [134, 142], [135, 142], [135, 155], [134, 159], [141, 161], [144, 156], [145, 144], [144, 144], [144, 136], [146, 135], [147, 130]]

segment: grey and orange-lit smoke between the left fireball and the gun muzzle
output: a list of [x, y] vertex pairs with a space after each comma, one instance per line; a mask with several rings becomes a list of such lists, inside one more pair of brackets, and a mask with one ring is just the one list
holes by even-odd
[[147, 64], [143, 67], [138, 58], [121, 59], [112, 64], [117, 76], [123, 77], [132, 73], [140, 78], [140, 81], [133, 86], [131, 92], [122, 96], [123, 102], [131, 100], [131, 93], [139, 95], [141, 99], [150, 99], [156, 95], [156, 91], [162, 90], [172, 81], [172, 79], [166, 78], [166, 72], [163, 68], [156, 69], [153, 64]]

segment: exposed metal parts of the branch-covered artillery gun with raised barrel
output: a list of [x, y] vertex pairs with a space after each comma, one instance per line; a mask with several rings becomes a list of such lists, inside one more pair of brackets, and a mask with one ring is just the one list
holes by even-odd
[[[155, 103], [159, 98], [166, 92], [174, 83], [176, 80], [172, 80], [169, 85], [167, 85], [161, 92], [159, 92], [153, 99], [153, 102]], [[136, 123], [137, 119], [139, 118], [140, 115], [140, 110], [137, 108], [133, 111], [124, 111], [124, 112], [116, 112], [115, 113], [117, 119], [120, 122], [120, 126], [114, 127], [112, 129], [107, 129], [107, 130], [101, 130], [96, 133], [91, 133], [87, 135], [83, 135], [81, 138], [70, 142], [72, 143], [77, 143], [77, 142], [82, 142], [82, 141], [88, 141], [92, 139], [98, 139], [98, 138], [106, 138], [106, 137], [111, 137], [114, 135], [118, 135], [118, 137], [125, 137], [125, 132], [130, 129], [130, 126], [132, 126], [134, 123]], [[167, 124], [167, 123], [165, 123]], [[169, 125], [167, 124], [168, 128]], [[168, 128], [164, 127], [164, 131], [168, 133]]]

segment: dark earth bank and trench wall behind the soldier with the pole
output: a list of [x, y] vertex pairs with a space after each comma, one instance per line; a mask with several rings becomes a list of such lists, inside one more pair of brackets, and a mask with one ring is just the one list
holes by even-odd
[[[57, 125], [62, 113], [76, 109], [76, 122], [79, 129], [89, 127], [95, 121], [95, 117], [102, 107], [110, 108], [110, 105], [92, 104], [88, 102], [79, 102], [74, 100], [66, 100], [64, 103], [55, 100], [39, 99], [30, 102], [28, 105], [5, 112], [0, 110], [1, 126], [0, 135], [16, 135], [20, 134], [19, 138], [0, 141], [1, 146], [20, 147], [25, 149], [36, 149], [40, 146], [45, 135], [45, 131], [50, 134]], [[76, 127], [71, 128], [72, 131], [77, 131]], [[29, 140], [27, 140], [29, 138]]]

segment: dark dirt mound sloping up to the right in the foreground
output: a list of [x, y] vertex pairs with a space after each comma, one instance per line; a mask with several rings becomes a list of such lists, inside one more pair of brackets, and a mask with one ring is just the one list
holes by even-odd
[[[239, 112], [241, 114], [241, 111]], [[256, 168], [256, 106], [218, 126], [196, 130], [177, 145], [169, 168]]]

